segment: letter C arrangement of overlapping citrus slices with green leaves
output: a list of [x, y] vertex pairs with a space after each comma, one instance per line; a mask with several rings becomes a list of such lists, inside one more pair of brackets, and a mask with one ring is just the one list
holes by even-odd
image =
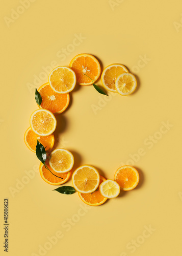
[[[95, 84], [100, 77], [102, 90]], [[133, 93], [137, 87], [136, 77], [126, 67], [114, 63], [101, 73], [99, 61], [91, 54], [76, 55], [69, 67], [59, 66], [53, 69], [48, 82], [35, 91], [35, 100], [39, 109], [30, 116], [30, 127], [24, 134], [24, 142], [40, 162], [40, 176], [51, 185], [62, 185], [72, 177], [73, 186], [60, 186], [54, 190], [71, 195], [77, 192], [80, 199], [92, 206], [116, 198], [120, 190], [134, 189], [139, 183], [139, 173], [133, 166], [119, 167], [113, 180], [99, 175], [91, 165], [82, 165], [72, 172], [74, 157], [66, 148], [53, 150], [57, 126], [56, 115], [61, 114], [69, 105], [69, 93], [75, 86], [90, 86], [98, 93], [107, 95], [107, 91], [122, 96]], [[53, 151], [51, 151], [53, 150]]]

